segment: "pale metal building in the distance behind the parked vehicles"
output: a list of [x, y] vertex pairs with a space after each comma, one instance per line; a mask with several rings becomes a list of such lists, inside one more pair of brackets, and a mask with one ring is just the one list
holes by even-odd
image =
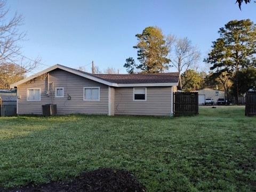
[[211, 97], [214, 101], [214, 104], [217, 104], [218, 98], [225, 98], [225, 91], [204, 88], [198, 90], [198, 104], [204, 105], [205, 99]]

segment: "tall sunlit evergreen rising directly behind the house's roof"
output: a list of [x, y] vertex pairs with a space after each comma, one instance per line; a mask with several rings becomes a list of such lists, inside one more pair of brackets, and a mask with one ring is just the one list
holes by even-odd
[[166, 58], [169, 48], [161, 29], [147, 27], [142, 34], [137, 34], [135, 37], [139, 42], [133, 48], [138, 49], [138, 60], [141, 63], [137, 69], [145, 73], [158, 73], [169, 68], [168, 64], [171, 60]]

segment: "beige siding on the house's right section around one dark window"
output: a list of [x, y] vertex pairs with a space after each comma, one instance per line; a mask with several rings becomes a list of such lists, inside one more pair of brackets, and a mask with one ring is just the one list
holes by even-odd
[[170, 115], [172, 87], [147, 87], [147, 101], [133, 101], [133, 87], [115, 89], [115, 114]]

